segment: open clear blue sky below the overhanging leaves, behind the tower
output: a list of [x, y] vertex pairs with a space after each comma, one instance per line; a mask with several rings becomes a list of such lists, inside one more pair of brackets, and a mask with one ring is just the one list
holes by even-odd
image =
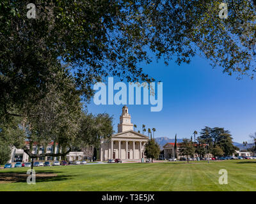
[[[256, 131], [255, 80], [230, 77], [221, 68], [212, 69], [202, 57], [180, 66], [152, 62], [143, 69], [163, 82], [163, 109], [150, 112], [152, 105], [127, 105], [138, 129], [145, 124], [146, 128], [156, 128], [155, 137], [174, 138], [177, 133], [178, 138], [190, 138], [193, 131], [199, 132], [204, 126], [221, 127], [231, 132], [235, 142], [250, 142], [249, 135]], [[122, 106], [95, 105], [92, 100], [88, 112], [113, 115], [117, 131]]]

